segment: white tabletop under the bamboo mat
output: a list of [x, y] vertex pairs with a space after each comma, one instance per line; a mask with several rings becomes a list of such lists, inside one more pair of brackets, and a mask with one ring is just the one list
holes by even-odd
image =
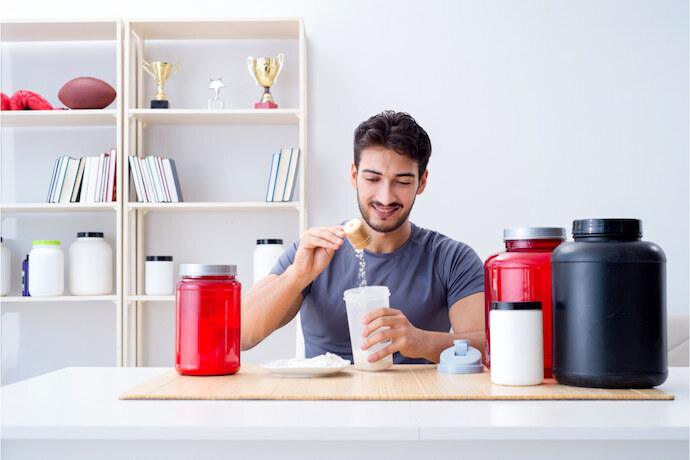
[[2, 441], [688, 441], [688, 368], [658, 387], [673, 401], [117, 399], [167, 370], [66, 368], [4, 386]]

